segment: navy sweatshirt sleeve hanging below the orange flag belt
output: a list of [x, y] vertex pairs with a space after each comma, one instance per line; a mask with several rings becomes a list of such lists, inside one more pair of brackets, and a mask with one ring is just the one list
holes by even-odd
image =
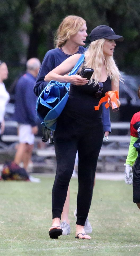
[[102, 121], [103, 121], [103, 131], [109, 131], [111, 133], [111, 122], [110, 122], [110, 109], [106, 109], [105, 104], [103, 102], [103, 111], [102, 111]]

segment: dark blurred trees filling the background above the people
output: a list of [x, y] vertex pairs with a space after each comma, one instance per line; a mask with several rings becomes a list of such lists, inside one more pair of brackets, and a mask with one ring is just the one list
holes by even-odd
[[115, 60], [121, 71], [139, 75], [139, 0], [0, 0], [0, 59], [9, 69], [7, 88], [25, 71], [27, 59], [42, 61], [46, 51], [54, 48], [54, 32], [67, 15], [84, 18], [88, 33], [104, 24], [123, 35]]

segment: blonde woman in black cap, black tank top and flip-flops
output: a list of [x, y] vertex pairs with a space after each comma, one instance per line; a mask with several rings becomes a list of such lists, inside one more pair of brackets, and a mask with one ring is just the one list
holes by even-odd
[[[53, 220], [49, 230], [50, 238], [58, 238], [62, 234], [60, 219], [77, 151], [79, 162], [75, 238], [91, 238], [85, 234], [84, 224], [90, 209], [97, 160], [103, 140], [102, 108], [95, 111], [94, 106], [98, 105], [106, 91], [118, 90], [119, 93], [121, 77], [113, 60], [113, 51], [115, 40], [122, 41], [123, 37], [116, 35], [111, 27], [100, 25], [91, 31], [89, 40], [90, 46], [85, 52], [82, 68], [95, 70], [90, 82], [78, 74], [67, 75], [80, 54], [72, 55], [45, 76], [47, 82], [55, 80], [71, 83], [68, 102], [54, 132], [57, 169], [52, 189]], [[103, 83], [102, 89], [99, 82]], [[98, 98], [97, 92], [100, 92]], [[120, 106], [119, 100], [118, 105]]]

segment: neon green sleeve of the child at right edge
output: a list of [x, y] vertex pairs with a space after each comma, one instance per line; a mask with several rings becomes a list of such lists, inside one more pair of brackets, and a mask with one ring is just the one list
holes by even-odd
[[126, 164], [132, 166], [138, 156], [138, 152], [136, 150], [136, 148], [133, 146], [133, 144], [135, 143], [135, 141], [137, 140], [138, 138], [136, 137], [133, 137], [133, 136], [130, 136], [130, 144], [129, 144], [129, 150], [128, 150], [128, 156], [127, 156], [127, 159], [126, 159]]

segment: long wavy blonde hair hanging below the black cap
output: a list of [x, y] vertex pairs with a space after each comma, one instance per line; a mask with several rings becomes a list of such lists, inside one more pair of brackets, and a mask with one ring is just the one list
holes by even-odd
[[107, 75], [113, 81], [114, 85], [118, 84], [118, 81], [122, 81], [119, 69], [113, 59], [113, 56], [104, 56], [103, 45], [107, 39], [98, 39], [90, 43], [88, 50], [85, 52], [85, 67], [93, 68], [94, 73], [91, 77], [89, 84], [92, 83], [92, 79], [95, 80], [94, 86], [97, 85], [102, 74], [102, 65], [104, 62]]

